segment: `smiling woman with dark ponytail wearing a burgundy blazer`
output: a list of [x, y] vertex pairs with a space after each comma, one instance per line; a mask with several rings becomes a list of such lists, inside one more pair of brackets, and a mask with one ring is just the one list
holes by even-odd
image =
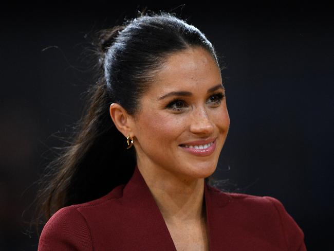
[[280, 201], [208, 185], [230, 118], [203, 33], [141, 14], [103, 30], [100, 49], [88, 112], [41, 195], [38, 250], [306, 250]]

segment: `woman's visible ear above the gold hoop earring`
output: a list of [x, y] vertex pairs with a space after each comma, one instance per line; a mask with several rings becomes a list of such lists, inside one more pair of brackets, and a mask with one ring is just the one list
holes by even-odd
[[110, 117], [112, 117], [115, 126], [118, 131], [120, 131], [124, 137], [129, 135], [133, 138], [133, 119], [130, 115], [127, 114], [126, 110], [118, 103], [112, 103], [109, 107]]

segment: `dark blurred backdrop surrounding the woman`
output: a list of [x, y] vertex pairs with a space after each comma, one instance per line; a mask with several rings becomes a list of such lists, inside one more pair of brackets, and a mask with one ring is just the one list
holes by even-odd
[[36, 250], [36, 181], [81, 116], [89, 35], [137, 11], [171, 11], [224, 56], [231, 127], [216, 178], [279, 199], [308, 250], [334, 250], [333, 14], [329, 6], [2, 4], [0, 250]]

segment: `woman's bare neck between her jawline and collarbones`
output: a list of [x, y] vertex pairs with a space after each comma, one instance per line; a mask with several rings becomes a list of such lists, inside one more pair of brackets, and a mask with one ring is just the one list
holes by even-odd
[[138, 169], [165, 221], [184, 223], [203, 220], [204, 178], [185, 181], [167, 171], [147, 170], [140, 165]]

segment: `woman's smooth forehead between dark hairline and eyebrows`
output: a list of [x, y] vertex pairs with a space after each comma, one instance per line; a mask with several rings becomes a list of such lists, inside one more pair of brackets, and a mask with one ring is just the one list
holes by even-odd
[[201, 47], [175, 52], [158, 71], [150, 93], [203, 88], [221, 83], [220, 69], [210, 53]]

